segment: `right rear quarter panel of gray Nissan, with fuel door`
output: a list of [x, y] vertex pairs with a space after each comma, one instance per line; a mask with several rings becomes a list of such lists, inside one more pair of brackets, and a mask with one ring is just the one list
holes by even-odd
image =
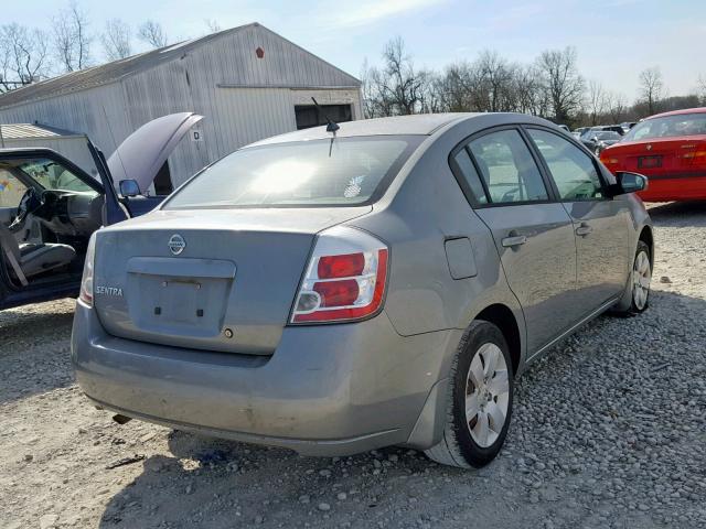
[[[498, 119], [479, 117], [438, 131], [420, 145], [371, 215], [353, 220], [391, 246], [385, 301], [404, 336], [466, 330], [486, 306], [502, 303], [515, 314], [524, 354], [524, 319], [510, 291], [488, 227], [475, 215], [448, 163], [466, 137]], [[468, 238], [478, 273], [453, 279], [445, 250], [449, 239]]]

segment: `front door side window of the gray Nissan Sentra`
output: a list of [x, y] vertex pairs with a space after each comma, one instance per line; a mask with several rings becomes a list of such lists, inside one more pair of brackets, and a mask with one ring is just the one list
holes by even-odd
[[549, 168], [563, 201], [602, 198], [602, 185], [591, 158], [557, 134], [530, 129], [530, 137]]

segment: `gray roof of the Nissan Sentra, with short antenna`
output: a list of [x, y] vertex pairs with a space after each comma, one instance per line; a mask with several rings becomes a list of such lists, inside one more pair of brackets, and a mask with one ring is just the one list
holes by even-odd
[[[483, 116], [472, 112], [448, 114], [417, 114], [414, 116], [394, 116], [391, 118], [361, 119], [339, 123], [338, 138], [359, 136], [429, 136], [441, 127], [453, 121]], [[287, 132], [265, 140], [252, 143], [248, 147], [264, 145], [268, 143], [284, 143], [289, 141], [307, 141], [331, 138], [325, 126]]]

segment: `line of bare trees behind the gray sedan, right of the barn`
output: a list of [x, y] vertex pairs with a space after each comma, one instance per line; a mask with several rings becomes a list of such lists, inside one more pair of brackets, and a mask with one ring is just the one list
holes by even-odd
[[569, 127], [637, 121], [660, 111], [706, 105], [706, 78], [694, 94], [668, 96], [657, 66], [640, 73], [640, 95], [628, 97], [587, 80], [575, 47], [547, 50], [531, 64], [509, 61], [492, 50], [441, 72], [417, 68], [400, 37], [384, 47], [382, 64], [363, 64], [367, 117], [422, 112], [524, 112]]

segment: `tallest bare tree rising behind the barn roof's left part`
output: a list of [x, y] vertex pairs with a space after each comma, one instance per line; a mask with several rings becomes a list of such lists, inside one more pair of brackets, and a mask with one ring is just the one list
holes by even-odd
[[52, 19], [54, 53], [64, 72], [89, 65], [93, 37], [88, 25], [88, 15], [75, 1]]

